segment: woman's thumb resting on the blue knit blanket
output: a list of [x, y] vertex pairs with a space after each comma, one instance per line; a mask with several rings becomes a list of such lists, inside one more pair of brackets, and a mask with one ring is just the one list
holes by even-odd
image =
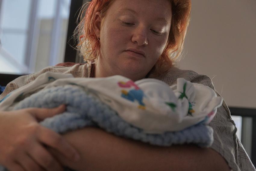
[[45, 118], [52, 117], [54, 115], [63, 113], [66, 110], [66, 105], [62, 104], [58, 107], [48, 109], [48, 108], [30, 108], [29, 112], [36, 117], [38, 121], [42, 121]]

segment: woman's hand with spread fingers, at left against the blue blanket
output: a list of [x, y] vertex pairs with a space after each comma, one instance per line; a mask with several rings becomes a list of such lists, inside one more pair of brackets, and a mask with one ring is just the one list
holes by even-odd
[[38, 123], [64, 111], [65, 105], [53, 109], [0, 111], [0, 164], [11, 171], [63, 170], [47, 146], [77, 161], [78, 153], [61, 135]]

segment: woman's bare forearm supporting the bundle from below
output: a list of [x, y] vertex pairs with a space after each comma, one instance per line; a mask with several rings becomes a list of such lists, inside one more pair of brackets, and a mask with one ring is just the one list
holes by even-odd
[[64, 138], [80, 152], [80, 162], [52, 152], [62, 164], [75, 170], [230, 170], [224, 158], [209, 148], [151, 146], [98, 128], [72, 131]]

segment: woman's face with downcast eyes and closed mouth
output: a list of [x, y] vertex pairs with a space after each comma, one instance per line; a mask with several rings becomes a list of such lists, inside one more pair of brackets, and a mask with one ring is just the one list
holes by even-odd
[[164, 51], [171, 16], [169, 0], [112, 2], [99, 32], [95, 31], [101, 46], [99, 70], [105, 76], [144, 78]]

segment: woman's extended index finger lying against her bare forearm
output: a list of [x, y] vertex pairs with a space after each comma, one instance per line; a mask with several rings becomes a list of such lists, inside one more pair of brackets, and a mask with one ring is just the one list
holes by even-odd
[[56, 149], [65, 157], [73, 161], [78, 161], [80, 159], [76, 149], [70, 146], [67, 141], [61, 137], [61, 135], [55, 133], [54, 131], [42, 127], [42, 131], [39, 133], [39, 140], [47, 146]]

